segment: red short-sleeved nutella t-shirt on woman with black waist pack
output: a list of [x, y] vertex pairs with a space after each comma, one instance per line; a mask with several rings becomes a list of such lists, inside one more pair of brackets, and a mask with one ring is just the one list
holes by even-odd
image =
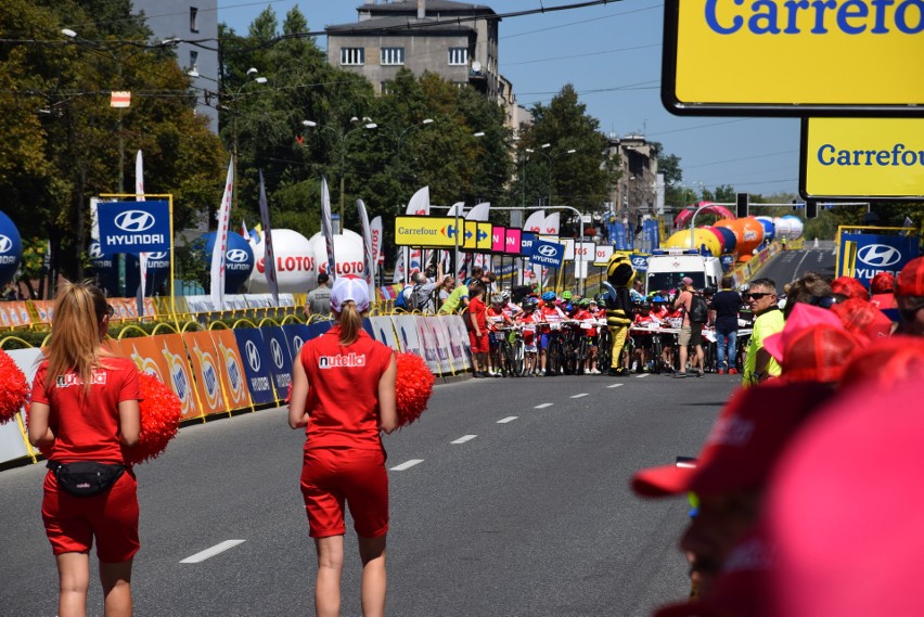
[[49, 426], [54, 444], [49, 459], [59, 463], [97, 461], [124, 463], [118, 436], [118, 403], [141, 400], [138, 369], [128, 358], [104, 358], [85, 390], [76, 373], [57, 377], [46, 388], [48, 360], [42, 361], [33, 382], [33, 402], [49, 406]]

